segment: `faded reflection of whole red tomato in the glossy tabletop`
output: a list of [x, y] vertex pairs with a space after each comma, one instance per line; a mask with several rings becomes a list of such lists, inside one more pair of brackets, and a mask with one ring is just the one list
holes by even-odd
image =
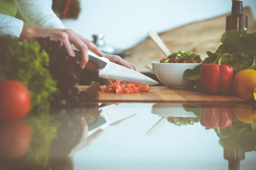
[[21, 120], [0, 122], [0, 157], [18, 158], [31, 143], [29, 127]]

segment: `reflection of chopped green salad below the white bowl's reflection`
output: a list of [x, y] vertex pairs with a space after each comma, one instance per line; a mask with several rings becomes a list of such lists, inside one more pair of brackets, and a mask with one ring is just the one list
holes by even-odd
[[168, 120], [168, 122], [177, 125], [177, 126], [182, 126], [182, 125], [194, 125], [194, 123], [199, 122], [199, 117], [168, 117], [168, 116], [163, 116]]

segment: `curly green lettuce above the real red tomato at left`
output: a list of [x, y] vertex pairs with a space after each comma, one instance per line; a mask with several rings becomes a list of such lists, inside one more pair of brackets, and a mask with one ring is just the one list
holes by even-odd
[[17, 38], [0, 37], [0, 79], [14, 79], [22, 82], [32, 98], [32, 112], [49, 109], [49, 98], [57, 92], [56, 82], [49, 70], [49, 57], [40, 52], [36, 41], [19, 43]]

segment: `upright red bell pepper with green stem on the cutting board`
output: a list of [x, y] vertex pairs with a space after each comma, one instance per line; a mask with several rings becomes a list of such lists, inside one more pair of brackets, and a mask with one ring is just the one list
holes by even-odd
[[222, 54], [218, 64], [204, 64], [201, 67], [201, 84], [209, 94], [230, 94], [233, 81], [233, 67], [221, 64]]

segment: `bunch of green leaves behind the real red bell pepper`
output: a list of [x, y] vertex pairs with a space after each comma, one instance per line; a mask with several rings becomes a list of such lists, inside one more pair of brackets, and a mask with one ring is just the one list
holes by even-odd
[[187, 69], [184, 77], [190, 80], [200, 79], [200, 69], [203, 64], [218, 64], [221, 55], [221, 64], [231, 65], [234, 76], [238, 71], [252, 68], [256, 70], [256, 33], [249, 34], [247, 31], [231, 30], [221, 36], [222, 44], [215, 53], [207, 51], [208, 57], [201, 65], [193, 70]]

